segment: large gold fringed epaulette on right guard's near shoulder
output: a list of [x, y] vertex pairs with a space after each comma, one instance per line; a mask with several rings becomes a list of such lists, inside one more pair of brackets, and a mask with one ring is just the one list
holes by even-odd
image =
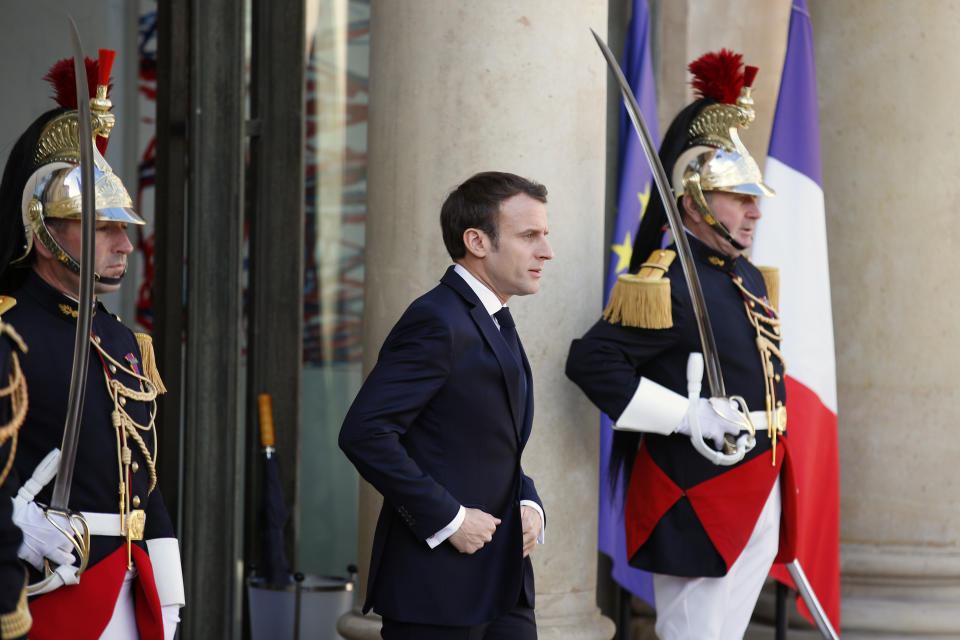
[[603, 311], [607, 322], [642, 329], [669, 329], [673, 326], [670, 280], [663, 275], [677, 254], [657, 249], [636, 274], [624, 273], [613, 285], [610, 302]]

